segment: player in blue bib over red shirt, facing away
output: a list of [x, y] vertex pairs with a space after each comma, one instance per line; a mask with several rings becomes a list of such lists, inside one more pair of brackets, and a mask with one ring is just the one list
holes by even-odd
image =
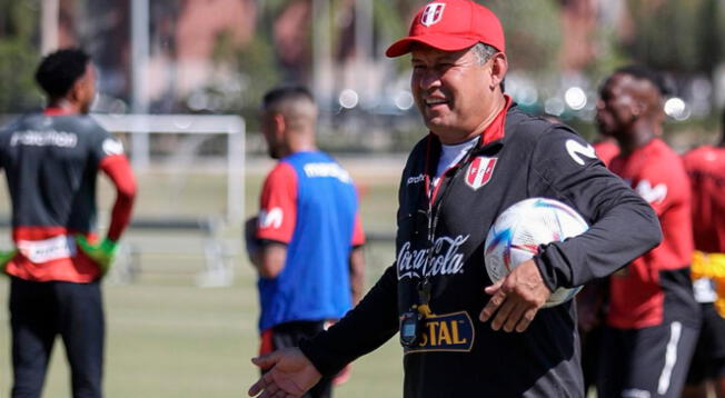
[[[362, 293], [357, 191], [349, 173], [315, 143], [317, 106], [304, 87], [268, 91], [261, 129], [269, 156], [259, 216], [247, 249], [259, 272], [260, 355], [297, 347], [341, 318]], [[339, 380], [339, 378], [338, 378]], [[322, 379], [306, 397], [330, 397]]]

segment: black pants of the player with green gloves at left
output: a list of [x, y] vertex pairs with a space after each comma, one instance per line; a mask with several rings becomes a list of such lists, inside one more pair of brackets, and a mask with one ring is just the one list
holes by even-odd
[[34, 282], [12, 277], [12, 397], [40, 397], [58, 336], [73, 397], [101, 397], [106, 321], [100, 282]]

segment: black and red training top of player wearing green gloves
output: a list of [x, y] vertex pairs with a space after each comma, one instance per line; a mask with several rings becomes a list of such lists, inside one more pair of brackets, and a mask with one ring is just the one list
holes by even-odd
[[34, 281], [89, 282], [99, 268], [73, 235], [95, 240], [96, 177], [117, 188], [108, 238], [128, 226], [136, 180], [122, 143], [92, 118], [60, 109], [21, 117], [0, 132], [0, 167], [12, 199], [12, 239], [19, 255], [8, 273]]

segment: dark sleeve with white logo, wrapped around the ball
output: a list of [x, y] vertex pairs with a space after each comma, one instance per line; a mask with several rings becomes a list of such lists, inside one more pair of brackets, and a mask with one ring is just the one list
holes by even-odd
[[528, 187], [534, 195], [546, 192], [564, 200], [589, 222], [583, 235], [546, 245], [535, 257], [552, 291], [606, 277], [662, 240], [652, 207], [604, 167], [592, 146], [566, 128], [540, 136]]

